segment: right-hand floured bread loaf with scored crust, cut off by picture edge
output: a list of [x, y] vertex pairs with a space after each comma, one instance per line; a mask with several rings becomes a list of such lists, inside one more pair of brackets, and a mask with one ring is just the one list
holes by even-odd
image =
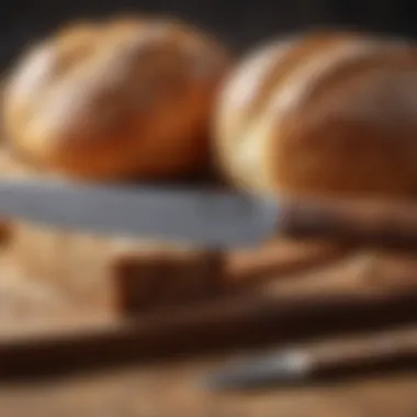
[[417, 195], [414, 45], [317, 32], [257, 49], [226, 79], [215, 148], [257, 192]]

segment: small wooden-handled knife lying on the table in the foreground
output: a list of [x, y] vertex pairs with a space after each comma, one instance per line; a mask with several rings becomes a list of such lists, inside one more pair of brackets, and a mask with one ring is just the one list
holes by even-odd
[[202, 383], [213, 391], [262, 388], [384, 365], [410, 370], [416, 363], [417, 329], [409, 328], [258, 354], [225, 365]]

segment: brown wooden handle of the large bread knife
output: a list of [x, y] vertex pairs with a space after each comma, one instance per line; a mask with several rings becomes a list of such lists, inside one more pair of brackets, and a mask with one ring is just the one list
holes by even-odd
[[300, 200], [283, 208], [282, 229], [296, 237], [417, 247], [417, 204]]

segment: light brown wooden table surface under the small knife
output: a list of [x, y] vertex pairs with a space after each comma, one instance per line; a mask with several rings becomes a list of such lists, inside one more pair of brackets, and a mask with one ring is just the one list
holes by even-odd
[[3, 386], [1, 417], [416, 417], [417, 375], [391, 375], [215, 394], [198, 386], [207, 363], [170, 364]]

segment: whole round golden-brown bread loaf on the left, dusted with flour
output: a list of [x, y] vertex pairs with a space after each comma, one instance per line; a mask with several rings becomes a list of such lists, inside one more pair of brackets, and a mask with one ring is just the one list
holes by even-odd
[[200, 169], [226, 50], [181, 22], [79, 23], [12, 69], [4, 123], [12, 149], [46, 170], [95, 180]]

